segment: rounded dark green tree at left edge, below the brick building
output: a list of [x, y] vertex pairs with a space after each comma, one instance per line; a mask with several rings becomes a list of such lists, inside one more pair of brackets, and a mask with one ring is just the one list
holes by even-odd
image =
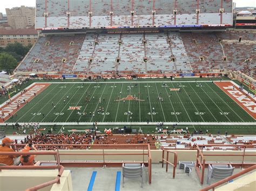
[[14, 58], [14, 56], [6, 52], [0, 53], [0, 69], [10, 73], [12, 70], [15, 69], [15, 67], [17, 66], [17, 63], [18, 62]]

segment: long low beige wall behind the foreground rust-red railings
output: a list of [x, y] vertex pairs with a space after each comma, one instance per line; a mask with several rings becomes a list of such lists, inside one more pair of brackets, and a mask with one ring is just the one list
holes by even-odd
[[[175, 150], [173, 150], [175, 151]], [[147, 153], [147, 151], [144, 151]], [[196, 150], [176, 150], [179, 160], [196, 161]], [[103, 153], [102, 150], [60, 150], [60, 153]], [[143, 153], [143, 150], [104, 150], [104, 153]], [[242, 154], [243, 151], [204, 151], [211, 154]], [[255, 154], [255, 151], [246, 151], [246, 154]], [[162, 159], [161, 150], [151, 150], [152, 162], [158, 163]], [[166, 158], [166, 157], [165, 157]], [[242, 161], [242, 157], [205, 157], [206, 161]], [[173, 161], [173, 154], [169, 154], [170, 161]], [[53, 155], [38, 155], [35, 160], [55, 160]], [[103, 160], [101, 155], [60, 155], [60, 160]], [[105, 160], [143, 160], [142, 155], [105, 155]], [[147, 155], [144, 155], [147, 160]], [[245, 161], [256, 162], [256, 157], [245, 157]]]

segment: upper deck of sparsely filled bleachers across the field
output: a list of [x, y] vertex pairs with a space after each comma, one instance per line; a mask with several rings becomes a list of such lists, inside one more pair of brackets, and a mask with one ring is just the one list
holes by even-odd
[[[36, 5], [37, 29], [232, 24], [232, 1], [230, 0], [37, 0]], [[220, 14], [221, 10], [223, 12]]]

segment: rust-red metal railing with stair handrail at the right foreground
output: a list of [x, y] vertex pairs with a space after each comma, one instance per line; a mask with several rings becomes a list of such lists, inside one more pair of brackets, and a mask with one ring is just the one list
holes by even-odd
[[[242, 154], [203, 154], [203, 147], [205, 146], [218, 146], [218, 147], [240, 147], [244, 148], [244, 151]], [[207, 167], [208, 163], [206, 162], [205, 157], [242, 157], [241, 162], [234, 162], [232, 163], [232, 166], [240, 166], [241, 168], [243, 166], [252, 166], [256, 165], [256, 162], [250, 162], [250, 164], [245, 164], [244, 159], [245, 157], [253, 157], [256, 156], [256, 154], [246, 154], [245, 150], [247, 147], [256, 147], [255, 144], [252, 145], [227, 145], [227, 144], [210, 144], [210, 145], [197, 145], [197, 161], [196, 161], [196, 172], [198, 175], [198, 178], [200, 180], [201, 185], [204, 184], [204, 174], [205, 174], [205, 167]], [[212, 162], [209, 164], [213, 164]], [[230, 162], [221, 162], [218, 164], [230, 164]]]

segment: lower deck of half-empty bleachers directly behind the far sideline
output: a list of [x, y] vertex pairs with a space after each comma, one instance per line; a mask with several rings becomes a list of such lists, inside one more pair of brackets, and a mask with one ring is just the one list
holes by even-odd
[[256, 45], [239, 43], [240, 36], [255, 41], [254, 33], [241, 32], [46, 36], [38, 39], [16, 71], [113, 74], [239, 69], [254, 75]]

